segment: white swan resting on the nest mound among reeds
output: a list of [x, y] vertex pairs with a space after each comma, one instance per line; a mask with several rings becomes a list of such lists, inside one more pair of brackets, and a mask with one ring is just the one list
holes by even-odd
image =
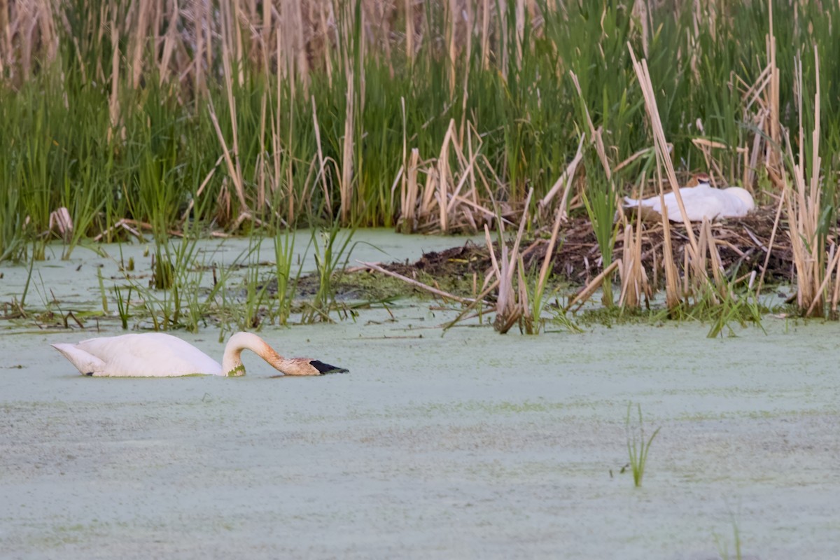
[[[743, 217], [755, 207], [753, 196], [738, 186], [719, 190], [709, 186], [709, 175], [697, 175], [697, 186], [684, 186], [680, 189], [685, 213], [691, 222], [702, 222], [706, 217], [713, 220], [716, 217]], [[680, 205], [673, 191], [663, 196], [665, 207], [668, 209], [668, 219], [671, 222], [682, 222]], [[639, 201], [629, 196], [624, 197], [624, 207], [638, 207]], [[641, 201], [641, 207], [662, 214], [662, 201], [659, 196], [651, 196]]]

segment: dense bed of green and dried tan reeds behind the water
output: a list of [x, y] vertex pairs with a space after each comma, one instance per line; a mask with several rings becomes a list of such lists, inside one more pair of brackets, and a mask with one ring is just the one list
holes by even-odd
[[[0, 260], [186, 222], [452, 232], [524, 216], [554, 245], [576, 207], [606, 269], [617, 196], [707, 170], [796, 216], [801, 306], [822, 313], [840, 254], [838, 16], [792, 0], [3, 0]], [[690, 232], [679, 290], [665, 265], [669, 307], [710, 269], [712, 300], [729, 293], [715, 240]], [[647, 275], [623, 261], [618, 299], [638, 305]]]

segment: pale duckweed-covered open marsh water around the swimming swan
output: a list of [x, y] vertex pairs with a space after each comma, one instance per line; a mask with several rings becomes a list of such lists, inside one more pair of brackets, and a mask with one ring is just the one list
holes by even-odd
[[[7, 326], [0, 557], [705, 560], [733, 526], [744, 557], [840, 557], [837, 323], [442, 337], [428, 302], [391, 311], [266, 327], [351, 371], [314, 379], [85, 378], [48, 344], [97, 333]], [[631, 401], [662, 427], [639, 489]]]

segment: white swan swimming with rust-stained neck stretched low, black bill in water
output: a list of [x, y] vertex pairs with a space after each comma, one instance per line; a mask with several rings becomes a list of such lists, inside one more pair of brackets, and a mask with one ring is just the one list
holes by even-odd
[[83, 375], [97, 377], [177, 377], [245, 374], [240, 354], [251, 350], [286, 375], [347, 373], [315, 359], [283, 358], [250, 332], [237, 332], [224, 348], [222, 364], [180, 338], [161, 332], [91, 338], [77, 344], [53, 344]]

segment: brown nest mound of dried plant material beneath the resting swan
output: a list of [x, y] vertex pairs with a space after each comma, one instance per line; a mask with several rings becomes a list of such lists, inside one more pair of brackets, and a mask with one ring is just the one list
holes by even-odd
[[[712, 224], [712, 233], [718, 243], [722, 265], [727, 274], [737, 273], [741, 276], [755, 270], [760, 275], [773, 233], [774, 218], [775, 208], [764, 207], [751, 212], [747, 217], [730, 218]], [[776, 232], [764, 275], [765, 282], [792, 280], [793, 254], [790, 238], [783, 231], [785, 226], [785, 222], [781, 222], [780, 231]], [[696, 235], [699, 235], [700, 227], [700, 224], [694, 225]], [[684, 261], [685, 244], [688, 243], [685, 226], [680, 223], [671, 224], [671, 235], [674, 259], [680, 266]], [[545, 256], [548, 240], [538, 238], [523, 244], [523, 264], [529, 270], [538, 269]], [[613, 259], [621, 256], [622, 245], [623, 233], [620, 232]], [[642, 233], [642, 261], [648, 275], [654, 281], [664, 277], [663, 248], [662, 226], [646, 225]], [[418, 272], [436, 278], [473, 273], [483, 275], [491, 268], [491, 258], [486, 246], [467, 242], [452, 249], [423, 254], [421, 259], [411, 264], [392, 263], [385, 265], [385, 268], [410, 278], [416, 277]], [[601, 253], [589, 220], [582, 217], [573, 218], [564, 224], [554, 249], [554, 275], [575, 284], [585, 284], [599, 274], [601, 269]]]

